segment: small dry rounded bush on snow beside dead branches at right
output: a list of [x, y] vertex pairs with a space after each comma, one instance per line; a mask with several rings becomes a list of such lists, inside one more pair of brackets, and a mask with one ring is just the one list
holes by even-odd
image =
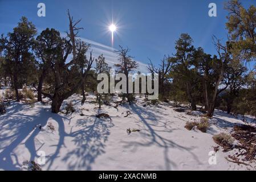
[[214, 142], [224, 147], [225, 150], [233, 146], [234, 138], [226, 133], [220, 133], [213, 136]]

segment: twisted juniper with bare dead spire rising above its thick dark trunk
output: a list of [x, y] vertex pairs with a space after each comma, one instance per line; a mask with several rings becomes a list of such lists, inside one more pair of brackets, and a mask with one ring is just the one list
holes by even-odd
[[[47, 79], [51, 81], [48, 82], [50, 84], [49, 92], [42, 92], [44, 96], [51, 99], [53, 113], [58, 113], [62, 102], [72, 96], [83, 85], [94, 62], [92, 52], [90, 52], [90, 59], [83, 74], [76, 69], [79, 65], [80, 55], [86, 51], [83, 48], [80, 49], [80, 40], [76, 39], [78, 30], [81, 29], [77, 28], [76, 25], [80, 20], [74, 22], [69, 11], [68, 18], [70, 20], [70, 30], [67, 32], [67, 38], [58, 38], [60, 40], [58, 56], [51, 67], [51, 74], [49, 75], [51, 78]], [[72, 60], [68, 61], [70, 53], [72, 53], [73, 57]]]

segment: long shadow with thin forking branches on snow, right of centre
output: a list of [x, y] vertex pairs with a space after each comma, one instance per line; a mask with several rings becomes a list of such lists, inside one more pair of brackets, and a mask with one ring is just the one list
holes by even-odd
[[[128, 142], [126, 147], [129, 146], [151, 146], [156, 144], [159, 147], [164, 148], [164, 158], [165, 158], [165, 169], [170, 170], [172, 167], [176, 167], [177, 164], [174, 163], [170, 158], [169, 158], [169, 149], [170, 148], [178, 148], [180, 150], [185, 150], [190, 153], [190, 155], [193, 156], [193, 158], [198, 162], [201, 163], [200, 160], [197, 158], [196, 155], [193, 154], [191, 150], [193, 150], [193, 147], [184, 147], [181, 146], [180, 144], [177, 144], [176, 142], [173, 142], [170, 139], [166, 139], [164, 137], [161, 137], [159, 133], [161, 132], [166, 132], [166, 130], [155, 130], [152, 127], [155, 127], [156, 125], [153, 125], [147, 120], [155, 121], [155, 122], [160, 122], [164, 123], [161, 120], [161, 117], [156, 117], [156, 115], [149, 109], [141, 108], [137, 105], [131, 105], [130, 106], [132, 111], [138, 115], [140, 118], [141, 122], [144, 123], [145, 127], [149, 131], [150, 135], [145, 135], [144, 137], [147, 137], [148, 142], [146, 143], [141, 143], [141, 142]], [[147, 120], [143, 117], [143, 115], [147, 115]], [[169, 129], [168, 132], [172, 132], [172, 129]]]

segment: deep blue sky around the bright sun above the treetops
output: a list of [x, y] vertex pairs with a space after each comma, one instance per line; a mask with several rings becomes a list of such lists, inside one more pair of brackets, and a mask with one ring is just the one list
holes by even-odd
[[[37, 5], [46, 5], [46, 17], [37, 16]], [[217, 4], [217, 17], [208, 16], [208, 5]], [[216, 53], [211, 36], [226, 39], [227, 12], [221, 0], [87, 0], [22, 1], [0, 0], [0, 33], [11, 31], [21, 16], [31, 20], [39, 31], [46, 27], [64, 32], [68, 29], [67, 9], [74, 19], [82, 18], [80, 36], [111, 46], [108, 24], [116, 23], [115, 45], [128, 46], [131, 55], [143, 63], [156, 64], [164, 54], [174, 53], [174, 43], [181, 33], [188, 33], [196, 47]], [[246, 8], [256, 0], [242, 1]]]

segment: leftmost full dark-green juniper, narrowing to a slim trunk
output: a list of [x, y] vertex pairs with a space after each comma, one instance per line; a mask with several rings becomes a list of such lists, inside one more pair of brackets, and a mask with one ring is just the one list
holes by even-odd
[[31, 61], [34, 61], [31, 48], [35, 34], [34, 24], [23, 16], [18, 26], [13, 28], [13, 32], [9, 32], [6, 37], [2, 35], [0, 40], [18, 102], [20, 100], [18, 89], [22, 88], [24, 73], [28, 71]]

